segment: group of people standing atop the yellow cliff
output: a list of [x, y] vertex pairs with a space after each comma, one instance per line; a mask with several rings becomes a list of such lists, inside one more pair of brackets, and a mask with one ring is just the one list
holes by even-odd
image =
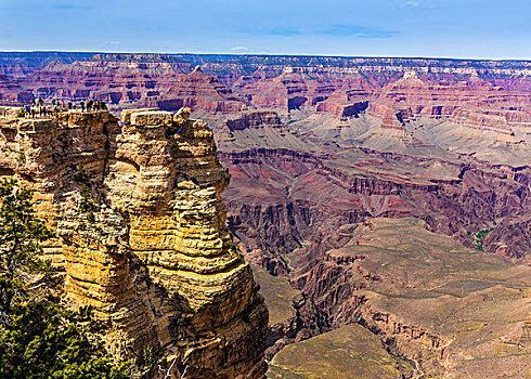
[[104, 101], [88, 100], [87, 102], [80, 101], [79, 107], [75, 102], [64, 100], [52, 100], [51, 105], [46, 105], [44, 101], [40, 99], [34, 99], [30, 104], [26, 104], [21, 107], [21, 115], [26, 118], [36, 117], [49, 117], [59, 114], [60, 112], [81, 109], [81, 112], [91, 110], [107, 110], [107, 105]]

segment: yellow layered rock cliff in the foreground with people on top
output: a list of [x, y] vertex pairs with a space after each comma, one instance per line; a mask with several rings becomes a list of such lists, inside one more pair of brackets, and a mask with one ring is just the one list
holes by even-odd
[[[107, 112], [0, 118], [0, 173], [35, 190], [59, 238], [73, 306], [114, 322], [109, 349], [163, 351], [174, 375], [259, 378], [268, 311], [232, 243], [220, 200], [229, 174], [212, 132], [173, 115]], [[80, 166], [82, 165], [82, 167]]]

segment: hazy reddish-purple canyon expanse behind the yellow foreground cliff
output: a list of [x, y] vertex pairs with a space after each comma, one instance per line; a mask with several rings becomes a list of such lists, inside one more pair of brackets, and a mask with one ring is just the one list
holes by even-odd
[[270, 310], [268, 377], [531, 378], [530, 78], [524, 61], [3, 53], [0, 103], [209, 123]]

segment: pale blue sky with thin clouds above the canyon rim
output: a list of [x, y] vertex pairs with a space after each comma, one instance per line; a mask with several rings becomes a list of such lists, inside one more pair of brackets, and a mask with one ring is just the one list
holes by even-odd
[[531, 60], [531, 1], [0, 0], [0, 50]]

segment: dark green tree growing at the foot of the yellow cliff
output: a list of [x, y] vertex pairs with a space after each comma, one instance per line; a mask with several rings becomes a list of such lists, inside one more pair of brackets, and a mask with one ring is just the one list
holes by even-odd
[[55, 272], [39, 258], [53, 233], [35, 215], [33, 194], [0, 181], [0, 379], [131, 378], [101, 342], [89, 308], [70, 311], [52, 291]]

